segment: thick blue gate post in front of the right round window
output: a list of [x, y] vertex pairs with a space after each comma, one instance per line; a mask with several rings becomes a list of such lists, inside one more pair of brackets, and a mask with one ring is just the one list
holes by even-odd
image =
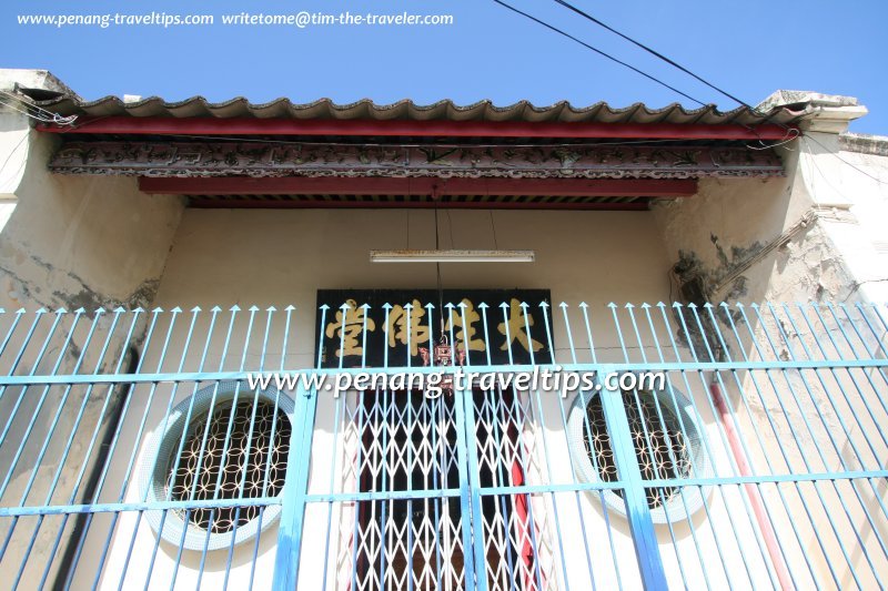
[[614, 461], [617, 475], [623, 482], [623, 499], [626, 503], [626, 517], [635, 542], [635, 554], [638, 559], [638, 570], [645, 589], [667, 589], [666, 573], [663, 570], [663, 560], [657, 548], [657, 536], [654, 522], [650, 519], [650, 507], [647, 505], [646, 489], [642, 478], [642, 469], [635, 455], [635, 441], [629, 431], [629, 419], [623, 406], [623, 393], [619, 388], [610, 389], [603, 380], [615, 368], [601, 368], [599, 377], [602, 407], [610, 435], [610, 446], [614, 451]]

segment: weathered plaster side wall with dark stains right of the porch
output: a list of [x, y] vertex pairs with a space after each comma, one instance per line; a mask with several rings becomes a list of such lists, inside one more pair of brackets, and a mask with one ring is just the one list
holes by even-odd
[[[884, 224], [888, 218], [885, 188], [888, 159], [839, 152], [838, 131], [840, 129], [828, 132], [807, 129], [801, 139], [778, 149], [787, 170], [784, 180], [703, 181], [697, 197], [665, 203], [655, 210], [668, 256], [677, 264], [676, 281], [703, 277], [714, 303], [736, 299], [747, 305], [774, 302], [777, 317], [767, 308], [760, 316], [749, 310], [749, 316], [758, 325], [756, 344], [763, 350], [769, 351], [764, 330], [771, 335], [786, 334], [788, 342], [778, 339], [775, 353], [787, 360], [806, 358], [806, 347], [819, 355], [818, 342], [824, 345], [826, 355], [838, 355], [830, 348], [828, 338], [841, 338], [840, 332], [828, 337], [810, 310], [808, 314], [815, 319], [814, 326], [808, 325], [795, 303], [847, 304], [847, 314], [861, 326], [866, 326], [860, 316], [862, 312], [855, 308], [855, 304], [869, 306], [869, 303], [876, 303], [876, 307], [865, 308], [875, 330], [865, 329], [864, 335], [868, 350], [875, 355], [884, 356], [888, 350], [882, 324], [882, 305], [888, 302], [885, 281], [888, 258], [884, 238]], [[783, 304], [795, 314], [795, 324], [787, 318]], [[824, 308], [825, 316], [830, 314]], [[838, 308], [837, 317], [842, 328], [851, 332], [846, 312]], [[727, 334], [730, 332], [727, 324], [719, 328]], [[751, 339], [745, 339], [744, 349], [731, 350], [730, 355], [735, 359], [743, 355], [753, 359], [758, 357]], [[849, 350], [842, 354], [852, 355]], [[861, 420], [860, 415], [852, 415], [841, 401], [841, 395], [854, 393], [855, 412], [867, 406], [881, 408], [880, 401], [886, 395], [884, 380], [878, 376], [864, 379], [861, 375], [842, 370], [819, 374], [789, 370], [783, 376], [785, 381], [779, 384], [779, 391], [768, 391], [770, 386], [760, 375], [746, 373], [737, 383], [722, 376], [734, 407], [740, 408], [744, 403], [749, 406], [749, 414], [739, 417], [743, 430], [753, 432], [756, 425], [763, 432], [770, 434], [768, 417], [775, 419], [777, 431], [774, 436], [778, 447], [774, 452], [786, 454], [787, 461], [796, 471], [842, 470], [859, 466], [857, 450], [872, 445], [867, 434], [872, 434], [872, 429], [878, 427]], [[763, 390], [768, 394], [767, 405], [756, 396]], [[754, 446], [750, 449], [755, 450]], [[755, 454], [750, 461], [758, 466], [757, 470], [763, 470], [769, 459]], [[819, 519], [817, 526], [799, 527], [799, 536], [810, 544], [826, 539], [824, 543], [833, 557], [834, 567], [841, 562], [837, 557], [842, 556], [844, 550], [839, 547], [841, 544], [836, 546], [830, 540], [829, 532], [846, 540], [854, 539], [854, 531], [858, 528], [872, 531], [874, 526], [862, 512], [864, 507], [870, 514], [880, 514], [880, 492], [862, 485], [856, 490], [841, 492], [845, 497], [836, 490], [815, 495], [814, 490], [805, 489], [798, 498], [789, 500], [796, 514], [801, 514], [803, 502], [810, 507], [826, 502], [838, 511], [848, 495], [852, 492], [856, 496], [850, 521], [839, 520], [833, 524]], [[765, 491], [764, 497], [769, 506], [780, 507], [781, 501], [774, 491]], [[778, 531], [786, 533], [787, 523], [778, 526]], [[874, 537], [865, 537], [864, 543], [864, 548], [878, 551]], [[859, 565], [861, 571], [867, 571], [869, 567], [864, 563], [862, 551], [859, 546], [854, 546], [849, 560], [851, 568]], [[831, 574], [826, 563], [815, 560], [815, 564], [820, 579], [829, 580]], [[842, 583], [850, 582], [849, 572], [844, 567], [840, 569]]]

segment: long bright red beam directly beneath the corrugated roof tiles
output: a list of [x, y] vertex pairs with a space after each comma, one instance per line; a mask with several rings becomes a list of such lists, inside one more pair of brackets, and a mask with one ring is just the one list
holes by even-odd
[[446, 137], [607, 137], [658, 140], [784, 140], [786, 128], [679, 123], [531, 123], [526, 121], [404, 121], [364, 119], [81, 118], [74, 128], [40, 124], [50, 133], [127, 135], [372, 135]]

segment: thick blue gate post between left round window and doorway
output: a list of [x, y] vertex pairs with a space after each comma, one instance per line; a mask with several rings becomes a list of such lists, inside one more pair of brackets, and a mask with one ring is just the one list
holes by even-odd
[[314, 432], [317, 393], [306, 389], [303, 380], [296, 387], [294, 429], [290, 436], [286, 477], [278, 532], [278, 554], [274, 559], [275, 591], [293, 591], [299, 581], [299, 561], [302, 554], [302, 524], [305, 518], [305, 495], [309, 491], [309, 466]]

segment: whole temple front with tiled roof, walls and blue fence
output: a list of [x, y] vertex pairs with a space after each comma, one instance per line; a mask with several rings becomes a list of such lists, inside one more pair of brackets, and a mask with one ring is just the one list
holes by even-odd
[[888, 573], [888, 140], [0, 70], [1, 588]]

